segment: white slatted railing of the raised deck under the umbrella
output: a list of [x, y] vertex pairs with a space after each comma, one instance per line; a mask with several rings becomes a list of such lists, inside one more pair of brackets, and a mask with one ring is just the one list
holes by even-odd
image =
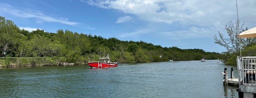
[[242, 92], [256, 93], [256, 57], [237, 57], [239, 88]]

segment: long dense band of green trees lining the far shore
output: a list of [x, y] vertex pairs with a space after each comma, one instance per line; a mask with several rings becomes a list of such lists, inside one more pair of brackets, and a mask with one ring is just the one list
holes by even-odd
[[29, 32], [20, 30], [4, 17], [0, 17], [0, 22], [0, 56], [6, 52], [8, 57], [16, 57], [17, 65], [38, 65], [39, 58], [43, 58], [41, 63], [44, 65], [63, 62], [79, 64], [98, 61], [104, 54], [110, 54], [112, 61], [119, 63], [200, 60], [202, 57], [218, 59], [219, 55], [202, 49], [163, 48], [144, 41], [120, 41], [69, 30], [49, 33], [37, 29]]

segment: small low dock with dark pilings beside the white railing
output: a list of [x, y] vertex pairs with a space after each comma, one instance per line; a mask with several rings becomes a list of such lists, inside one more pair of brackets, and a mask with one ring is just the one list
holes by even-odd
[[231, 68], [230, 71], [230, 78], [228, 78], [227, 75], [227, 68], [224, 68], [224, 72], [222, 72], [222, 75], [224, 75], [223, 77], [223, 85], [234, 85], [234, 86], [239, 86], [239, 82], [238, 82], [238, 78], [234, 78], [233, 76], [233, 69]]

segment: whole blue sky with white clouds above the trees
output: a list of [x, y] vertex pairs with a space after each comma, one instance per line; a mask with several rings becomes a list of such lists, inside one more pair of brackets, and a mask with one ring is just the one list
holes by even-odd
[[[244, 29], [256, 27], [256, 1], [237, 0]], [[237, 20], [235, 0], [0, 0], [0, 16], [20, 29], [115, 37], [162, 47], [224, 52], [218, 31]]]

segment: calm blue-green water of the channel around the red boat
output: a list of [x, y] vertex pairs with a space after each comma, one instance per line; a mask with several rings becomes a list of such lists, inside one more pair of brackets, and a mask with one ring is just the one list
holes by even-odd
[[218, 60], [119, 64], [112, 68], [1, 68], [0, 97], [238, 98], [237, 87], [223, 86], [224, 67], [230, 73], [232, 66]]

